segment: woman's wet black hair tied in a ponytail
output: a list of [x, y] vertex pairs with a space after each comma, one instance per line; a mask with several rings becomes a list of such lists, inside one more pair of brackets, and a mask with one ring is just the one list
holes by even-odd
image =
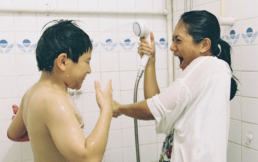
[[[232, 48], [226, 41], [220, 38], [220, 26], [215, 15], [204, 10], [189, 11], [183, 13], [180, 20], [185, 23], [186, 32], [193, 37], [194, 43], [198, 44], [203, 39], [209, 38], [211, 40], [212, 55], [226, 61], [232, 71], [230, 58]], [[237, 91], [235, 79], [234, 76], [231, 78], [230, 100], [232, 100]]]

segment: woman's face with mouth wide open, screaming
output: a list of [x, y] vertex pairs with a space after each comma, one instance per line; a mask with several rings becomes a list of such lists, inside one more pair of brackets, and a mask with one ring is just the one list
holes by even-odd
[[182, 20], [176, 24], [172, 38], [170, 50], [179, 58], [179, 67], [184, 70], [194, 59], [201, 56], [200, 44], [193, 43], [193, 37], [186, 33], [185, 23]]

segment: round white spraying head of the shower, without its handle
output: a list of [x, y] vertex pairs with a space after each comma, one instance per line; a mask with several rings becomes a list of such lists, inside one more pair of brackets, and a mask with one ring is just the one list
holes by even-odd
[[149, 34], [149, 28], [144, 20], [139, 19], [133, 23], [133, 32], [140, 38], [146, 37]]

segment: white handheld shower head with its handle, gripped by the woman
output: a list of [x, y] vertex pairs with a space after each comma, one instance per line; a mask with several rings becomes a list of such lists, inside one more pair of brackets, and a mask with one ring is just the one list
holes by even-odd
[[[149, 26], [144, 20], [138, 19], [135, 23], [133, 23], [133, 32], [140, 38], [146, 38], [150, 43]], [[143, 71], [145, 70], [148, 60], [149, 56], [143, 54], [138, 71], [138, 75], [140, 75], [139, 77], [142, 77]]]

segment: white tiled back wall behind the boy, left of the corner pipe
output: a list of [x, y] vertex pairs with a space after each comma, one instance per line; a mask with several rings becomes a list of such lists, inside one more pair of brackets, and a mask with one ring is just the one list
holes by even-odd
[[[40, 8], [79, 8], [85, 9], [165, 9], [164, 0], [21, 0], [0, 3], [9, 7]], [[157, 75], [160, 88], [168, 86], [166, 15], [152, 14], [82, 14], [82, 13], [30, 13], [0, 11], [0, 41], [7, 41], [7, 46], [0, 42], [0, 161], [32, 162], [33, 154], [29, 142], [11, 142], [7, 128], [11, 122], [12, 105], [20, 103], [24, 92], [35, 83], [40, 72], [34, 54], [34, 45], [41, 35], [42, 27], [54, 19], [76, 19], [80, 27], [93, 40], [91, 60], [92, 73], [83, 83], [83, 93], [73, 97], [85, 122], [85, 136], [93, 130], [99, 116], [95, 99], [94, 81], [99, 80], [104, 88], [112, 79], [113, 97], [121, 103], [133, 102], [133, 88], [136, 72], [140, 63], [137, 54], [139, 38], [132, 30], [136, 19], [144, 19], [154, 32], [157, 48]], [[29, 40], [28, 46], [23, 44]], [[106, 40], [111, 39], [111, 46]], [[125, 40], [130, 39], [130, 45]], [[116, 44], [116, 45], [115, 45]], [[115, 45], [112, 48], [112, 45]], [[106, 48], [103, 48], [106, 46]], [[143, 77], [139, 82], [138, 101], [143, 100]], [[138, 121], [139, 144], [142, 161], [157, 161], [164, 136], [155, 133], [154, 121]], [[148, 133], [147, 133], [148, 132]], [[151, 133], [150, 133], [151, 132]], [[158, 149], [157, 149], [158, 148]], [[112, 119], [107, 149], [103, 162], [136, 161], [134, 122], [132, 118], [121, 116]]]

